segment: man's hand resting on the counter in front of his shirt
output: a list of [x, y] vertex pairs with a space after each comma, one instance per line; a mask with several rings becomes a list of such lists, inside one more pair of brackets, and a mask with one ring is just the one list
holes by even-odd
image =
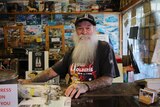
[[73, 98], [73, 96], [75, 96], [75, 98], [78, 98], [80, 94], [86, 93], [87, 91], [88, 91], [88, 87], [86, 84], [77, 83], [77, 84], [70, 85], [65, 91], [65, 95], [71, 98]]

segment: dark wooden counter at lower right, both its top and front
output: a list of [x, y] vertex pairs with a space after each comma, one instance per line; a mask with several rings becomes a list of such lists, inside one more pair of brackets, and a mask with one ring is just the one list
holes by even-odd
[[140, 103], [139, 89], [136, 83], [113, 83], [112, 86], [72, 99], [72, 107], [159, 107], [160, 102], [151, 105]]

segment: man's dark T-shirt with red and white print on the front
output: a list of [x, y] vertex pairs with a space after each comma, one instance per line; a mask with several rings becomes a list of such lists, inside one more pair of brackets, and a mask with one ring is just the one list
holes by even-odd
[[[52, 69], [64, 78], [66, 74], [73, 76], [72, 63], [72, 52], [73, 49], [68, 51], [63, 59], [52, 66]], [[89, 67], [89, 68], [87, 68]], [[91, 68], [93, 67], [93, 69]], [[88, 71], [85, 71], [84, 68]], [[79, 69], [79, 71], [77, 70]], [[77, 66], [75, 71], [81, 81], [90, 81], [101, 76], [118, 77], [120, 76], [115, 54], [112, 47], [104, 41], [98, 41], [98, 47], [96, 51], [96, 57], [93, 64]], [[73, 69], [72, 69], [73, 70]]]

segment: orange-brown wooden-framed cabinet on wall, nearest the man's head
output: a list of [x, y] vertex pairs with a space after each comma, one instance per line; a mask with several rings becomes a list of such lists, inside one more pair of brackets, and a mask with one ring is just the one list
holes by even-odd
[[45, 50], [50, 52], [50, 57], [54, 56], [54, 59], [59, 59], [59, 53], [65, 52], [65, 38], [64, 38], [64, 26], [46, 26], [46, 47]]

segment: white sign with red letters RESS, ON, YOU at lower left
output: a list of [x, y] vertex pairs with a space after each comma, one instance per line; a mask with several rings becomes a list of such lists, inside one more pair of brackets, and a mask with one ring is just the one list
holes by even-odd
[[17, 84], [0, 85], [0, 107], [18, 107]]

